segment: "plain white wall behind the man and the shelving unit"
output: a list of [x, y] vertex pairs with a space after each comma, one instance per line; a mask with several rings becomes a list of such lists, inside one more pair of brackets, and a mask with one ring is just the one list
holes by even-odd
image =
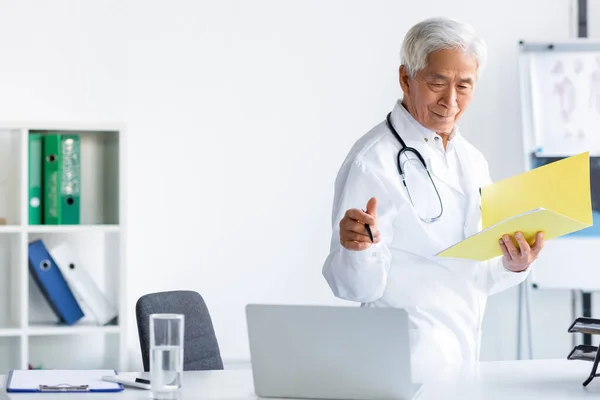
[[[400, 93], [409, 26], [452, 15], [488, 41], [461, 125], [502, 178], [522, 167], [517, 42], [568, 37], [570, 3], [0, 1], [0, 120], [125, 119], [131, 367], [135, 301], [179, 288], [245, 359], [247, 302], [345, 304], [320, 271], [333, 179]], [[568, 293], [534, 301], [536, 356], [564, 357]], [[515, 307], [515, 290], [490, 299], [484, 358], [514, 357]]]

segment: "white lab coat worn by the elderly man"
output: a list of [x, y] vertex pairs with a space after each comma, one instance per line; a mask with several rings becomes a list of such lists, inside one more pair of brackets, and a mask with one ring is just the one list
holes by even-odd
[[[441, 221], [424, 223], [415, 213], [397, 170], [401, 145], [382, 121], [357, 141], [338, 173], [331, 252], [323, 275], [339, 298], [364, 307], [400, 307], [408, 312], [413, 378], [419, 381], [435, 375], [436, 368], [452, 369], [479, 359], [487, 297], [519, 284], [529, 269], [508, 271], [501, 257], [473, 262], [435, 256], [456, 242], [461, 227], [463, 238], [481, 230], [479, 189], [491, 182], [488, 165], [456, 128], [452, 140], [464, 179], [464, 186], [457, 187], [456, 179], [431, 162], [424, 140], [428, 131], [400, 100], [392, 110], [392, 122], [406, 145], [417, 149], [427, 162], [444, 204]], [[449, 205], [461, 204], [455, 197], [463, 189], [466, 207], [453, 209]], [[339, 221], [350, 208], [365, 209], [371, 197], [378, 201], [382, 240], [364, 251], [347, 250], [340, 244]]]

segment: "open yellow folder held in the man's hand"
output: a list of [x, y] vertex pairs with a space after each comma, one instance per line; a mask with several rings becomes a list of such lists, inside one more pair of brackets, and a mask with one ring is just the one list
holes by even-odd
[[481, 211], [483, 230], [438, 256], [484, 261], [502, 255], [504, 234], [523, 232], [533, 245], [539, 231], [550, 240], [592, 226], [589, 153], [483, 187]]

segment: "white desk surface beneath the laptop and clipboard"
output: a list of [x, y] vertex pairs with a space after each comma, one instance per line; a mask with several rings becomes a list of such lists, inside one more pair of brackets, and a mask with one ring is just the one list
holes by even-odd
[[[600, 377], [584, 388], [582, 382], [590, 373], [592, 363], [569, 360], [531, 360], [483, 362], [453, 377], [423, 387], [418, 400], [431, 399], [589, 399], [600, 398]], [[5, 377], [0, 382], [4, 384]], [[184, 372], [183, 399], [256, 399], [252, 371], [235, 369], [225, 371]], [[3, 397], [4, 396], [4, 397]], [[110, 398], [121, 400], [148, 400], [147, 390], [127, 388], [111, 394], [6, 394], [0, 399], [56, 400], [74, 398]]]

